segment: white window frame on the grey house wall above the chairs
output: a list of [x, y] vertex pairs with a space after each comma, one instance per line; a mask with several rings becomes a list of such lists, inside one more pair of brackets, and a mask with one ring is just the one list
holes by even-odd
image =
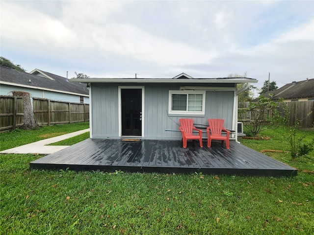
[[[172, 110], [172, 95], [173, 94], [186, 94], [186, 107], [188, 106], [188, 94], [202, 94], [202, 111], [179, 111]], [[173, 91], [169, 90], [169, 99], [168, 99], [168, 113], [170, 115], [178, 114], [178, 115], [205, 115], [205, 98], [206, 91]]]

